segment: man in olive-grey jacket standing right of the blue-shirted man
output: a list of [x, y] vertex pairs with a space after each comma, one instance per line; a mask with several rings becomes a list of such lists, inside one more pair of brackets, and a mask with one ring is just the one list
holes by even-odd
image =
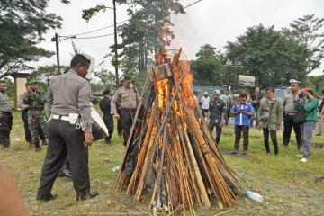
[[270, 155], [269, 133], [274, 144], [275, 156], [279, 154], [278, 142], [276, 139], [276, 130], [280, 129], [283, 121], [282, 104], [275, 99], [275, 89], [272, 87], [266, 88], [266, 100], [263, 101], [258, 110], [259, 129], [263, 129], [266, 154]]

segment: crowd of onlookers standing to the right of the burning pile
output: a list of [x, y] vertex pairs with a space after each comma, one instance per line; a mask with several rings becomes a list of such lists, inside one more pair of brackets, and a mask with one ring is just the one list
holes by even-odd
[[[277, 130], [280, 130], [282, 121], [284, 121], [284, 148], [287, 148], [292, 130], [294, 130], [297, 141], [297, 149], [302, 152], [302, 162], [307, 162], [311, 152], [311, 137], [315, 125], [318, 121], [319, 130], [317, 135], [321, 135], [322, 123], [324, 121], [324, 101], [320, 104], [320, 112], [318, 113], [319, 98], [314, 96], [314, 92], [308, 88], [300, 89], [298, 80], [291, 79], [291, 93], [284, 96], [284, 101], [280, 102], [275, 98], [275, 89], [273, 87], [266, 88], [266, 98], [262, 99], [259, 87], [255, 88], [253, 94], [239, 94], [238, 102], [234, 102], [233, 97], [226, 90], [224, 94], [220, 94], [220, 90], [215, 90], [213, 100], [207, 92], [204, 92], [200, 104], [202, 116], [208, 123], [211, 132], [216, 129], [215, 143], [219, 145], [221, 130], [224, 125], [229, 125], [229, 116], [234, 116], [234, 149], [232, 154], [236, 155], [239, 151], [239, 142], [241, 134], [243, 134], [243, 155], [248, 154], [248, 134], [249, 129], [253, 128], [255, 121], [256, 128], [263, 131], [264, 144], [266, 154], [270, 155], [269, 136], [273, 142], [275, 156], [279, 154]], [[324, 90], [322, 90], [324, 95]], [[304, 120], [295, 121], [299, 118], [298, 111], [302, 107], [305, 112]], [[206, 114], [205, 114], [206, 113]], [[298, 116], [297, 116], [298, 115]]]

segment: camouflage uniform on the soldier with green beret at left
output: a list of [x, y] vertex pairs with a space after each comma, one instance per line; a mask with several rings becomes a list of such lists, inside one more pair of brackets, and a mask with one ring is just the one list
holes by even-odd
[[37, 96], [23, 94], [23, 104], [29, 105], [28, 127], [31, 130], [31, 142], [36, 148], [40, 146], [39, 129], [42, 130], [45, 139], [47, 136], [47, 119], [44, 112], [46, 102], [47, 96], [44, 92], [38, 91]]

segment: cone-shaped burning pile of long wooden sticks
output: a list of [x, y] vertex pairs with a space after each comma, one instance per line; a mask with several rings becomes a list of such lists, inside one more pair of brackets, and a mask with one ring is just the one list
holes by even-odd
[[180, 55], [170, 62], [159, 53], [157, 67], [148, 72], [116, 190], [142, 201], [151, 189], [152, 211], [187, 207], [194, 214], [196, 205], [210, 208], [211, 202], [233, 207], [242, 189], [202, 120], [190, 64]]

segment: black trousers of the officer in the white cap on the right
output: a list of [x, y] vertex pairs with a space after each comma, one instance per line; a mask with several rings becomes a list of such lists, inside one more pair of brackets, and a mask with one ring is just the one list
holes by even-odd
[[293, 116], [284, 114], [284, 146], [288, 146], [292, 130], [296, 134], [297, 148], [302, 147], [302, 127], [301, 124], [293, 123]]

